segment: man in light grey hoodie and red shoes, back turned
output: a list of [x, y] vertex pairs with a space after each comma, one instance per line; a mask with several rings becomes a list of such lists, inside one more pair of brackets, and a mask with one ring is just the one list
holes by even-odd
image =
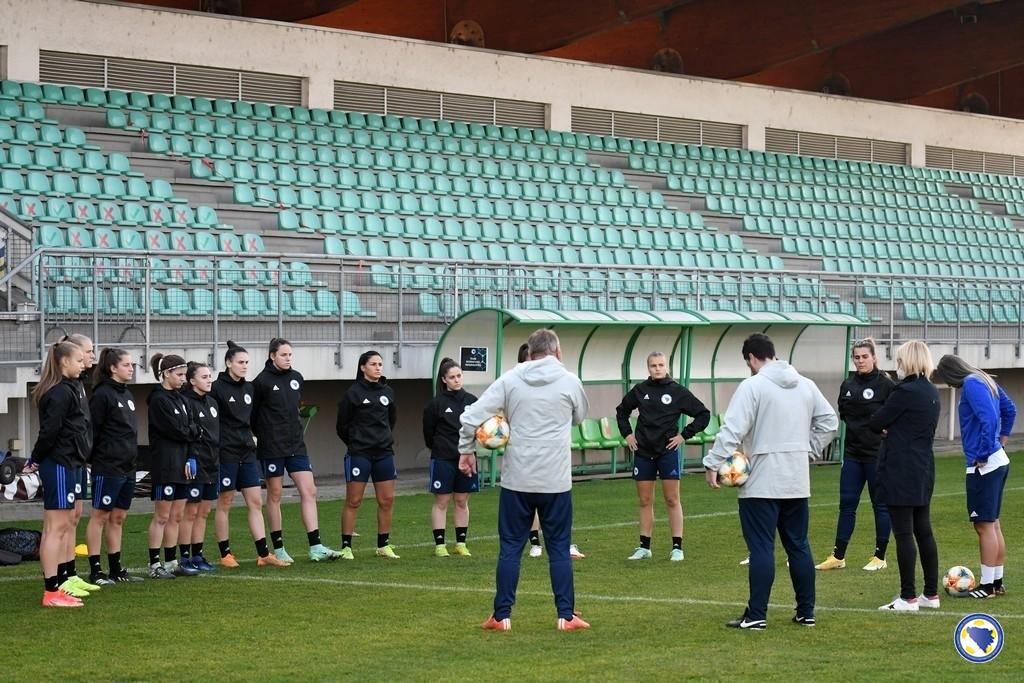
[[501, 551], [496, 571], [495, 611], [482, 627], [487, 631], [512, 629], [519, 561], [537, 513], [548, 546], [558, 630], [578, 631], [590, 625], [573, 615], [569, 442], [572, 425], [583, 422], [589, 404], [580, 378], [562, 366], [562, 352], [554, 332], [538, 330], [526, 343], [530, 359], [498, 378], [462, 414], [459, 469], [466, 474], [476, 471], [476, 428], [488, 418], [504, 414], [511, 429], [502, 458], [502, 492], [498, 503]]

